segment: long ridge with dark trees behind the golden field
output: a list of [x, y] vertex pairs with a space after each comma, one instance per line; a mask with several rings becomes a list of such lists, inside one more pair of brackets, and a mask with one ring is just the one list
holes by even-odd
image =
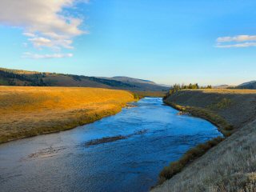
[[96, 78], [6, 68], [0, 68], [0, 86], [81, 86], [120, 90], [167, 90], [165, 86], [136, 78]]

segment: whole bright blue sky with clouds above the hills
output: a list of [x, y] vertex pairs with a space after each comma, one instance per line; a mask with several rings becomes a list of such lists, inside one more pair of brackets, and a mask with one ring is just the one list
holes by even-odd
[[0, 7], [2, 67], [165, 84], [256, 79], [255, 1], [2, 0]]

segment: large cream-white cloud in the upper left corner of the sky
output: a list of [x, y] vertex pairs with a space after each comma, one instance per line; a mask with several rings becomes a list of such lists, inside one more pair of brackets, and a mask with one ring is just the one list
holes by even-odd
[[83, 19], [66, 10], [76, 2], [89, 0], [1, 0], [0, 24], [21, 27], [36, 48], [73, 49], [72, 39], [88, 34], [81, 29]]

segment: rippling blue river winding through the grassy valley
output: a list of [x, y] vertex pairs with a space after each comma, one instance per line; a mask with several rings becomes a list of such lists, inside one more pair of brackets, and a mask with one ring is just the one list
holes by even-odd
[[[222, 135], [162, 98], [134, 105], [74, 130], [0, 145], [0, 191], [147, 191], [163, 166]], [[94, 140], [101, 138], [110, 139]]]

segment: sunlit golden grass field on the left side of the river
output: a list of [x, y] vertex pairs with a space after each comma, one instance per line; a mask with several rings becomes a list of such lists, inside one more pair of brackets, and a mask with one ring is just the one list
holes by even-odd
[[94, 122], [132, 101], [125, 90], [0, 86], [0, 143]]

